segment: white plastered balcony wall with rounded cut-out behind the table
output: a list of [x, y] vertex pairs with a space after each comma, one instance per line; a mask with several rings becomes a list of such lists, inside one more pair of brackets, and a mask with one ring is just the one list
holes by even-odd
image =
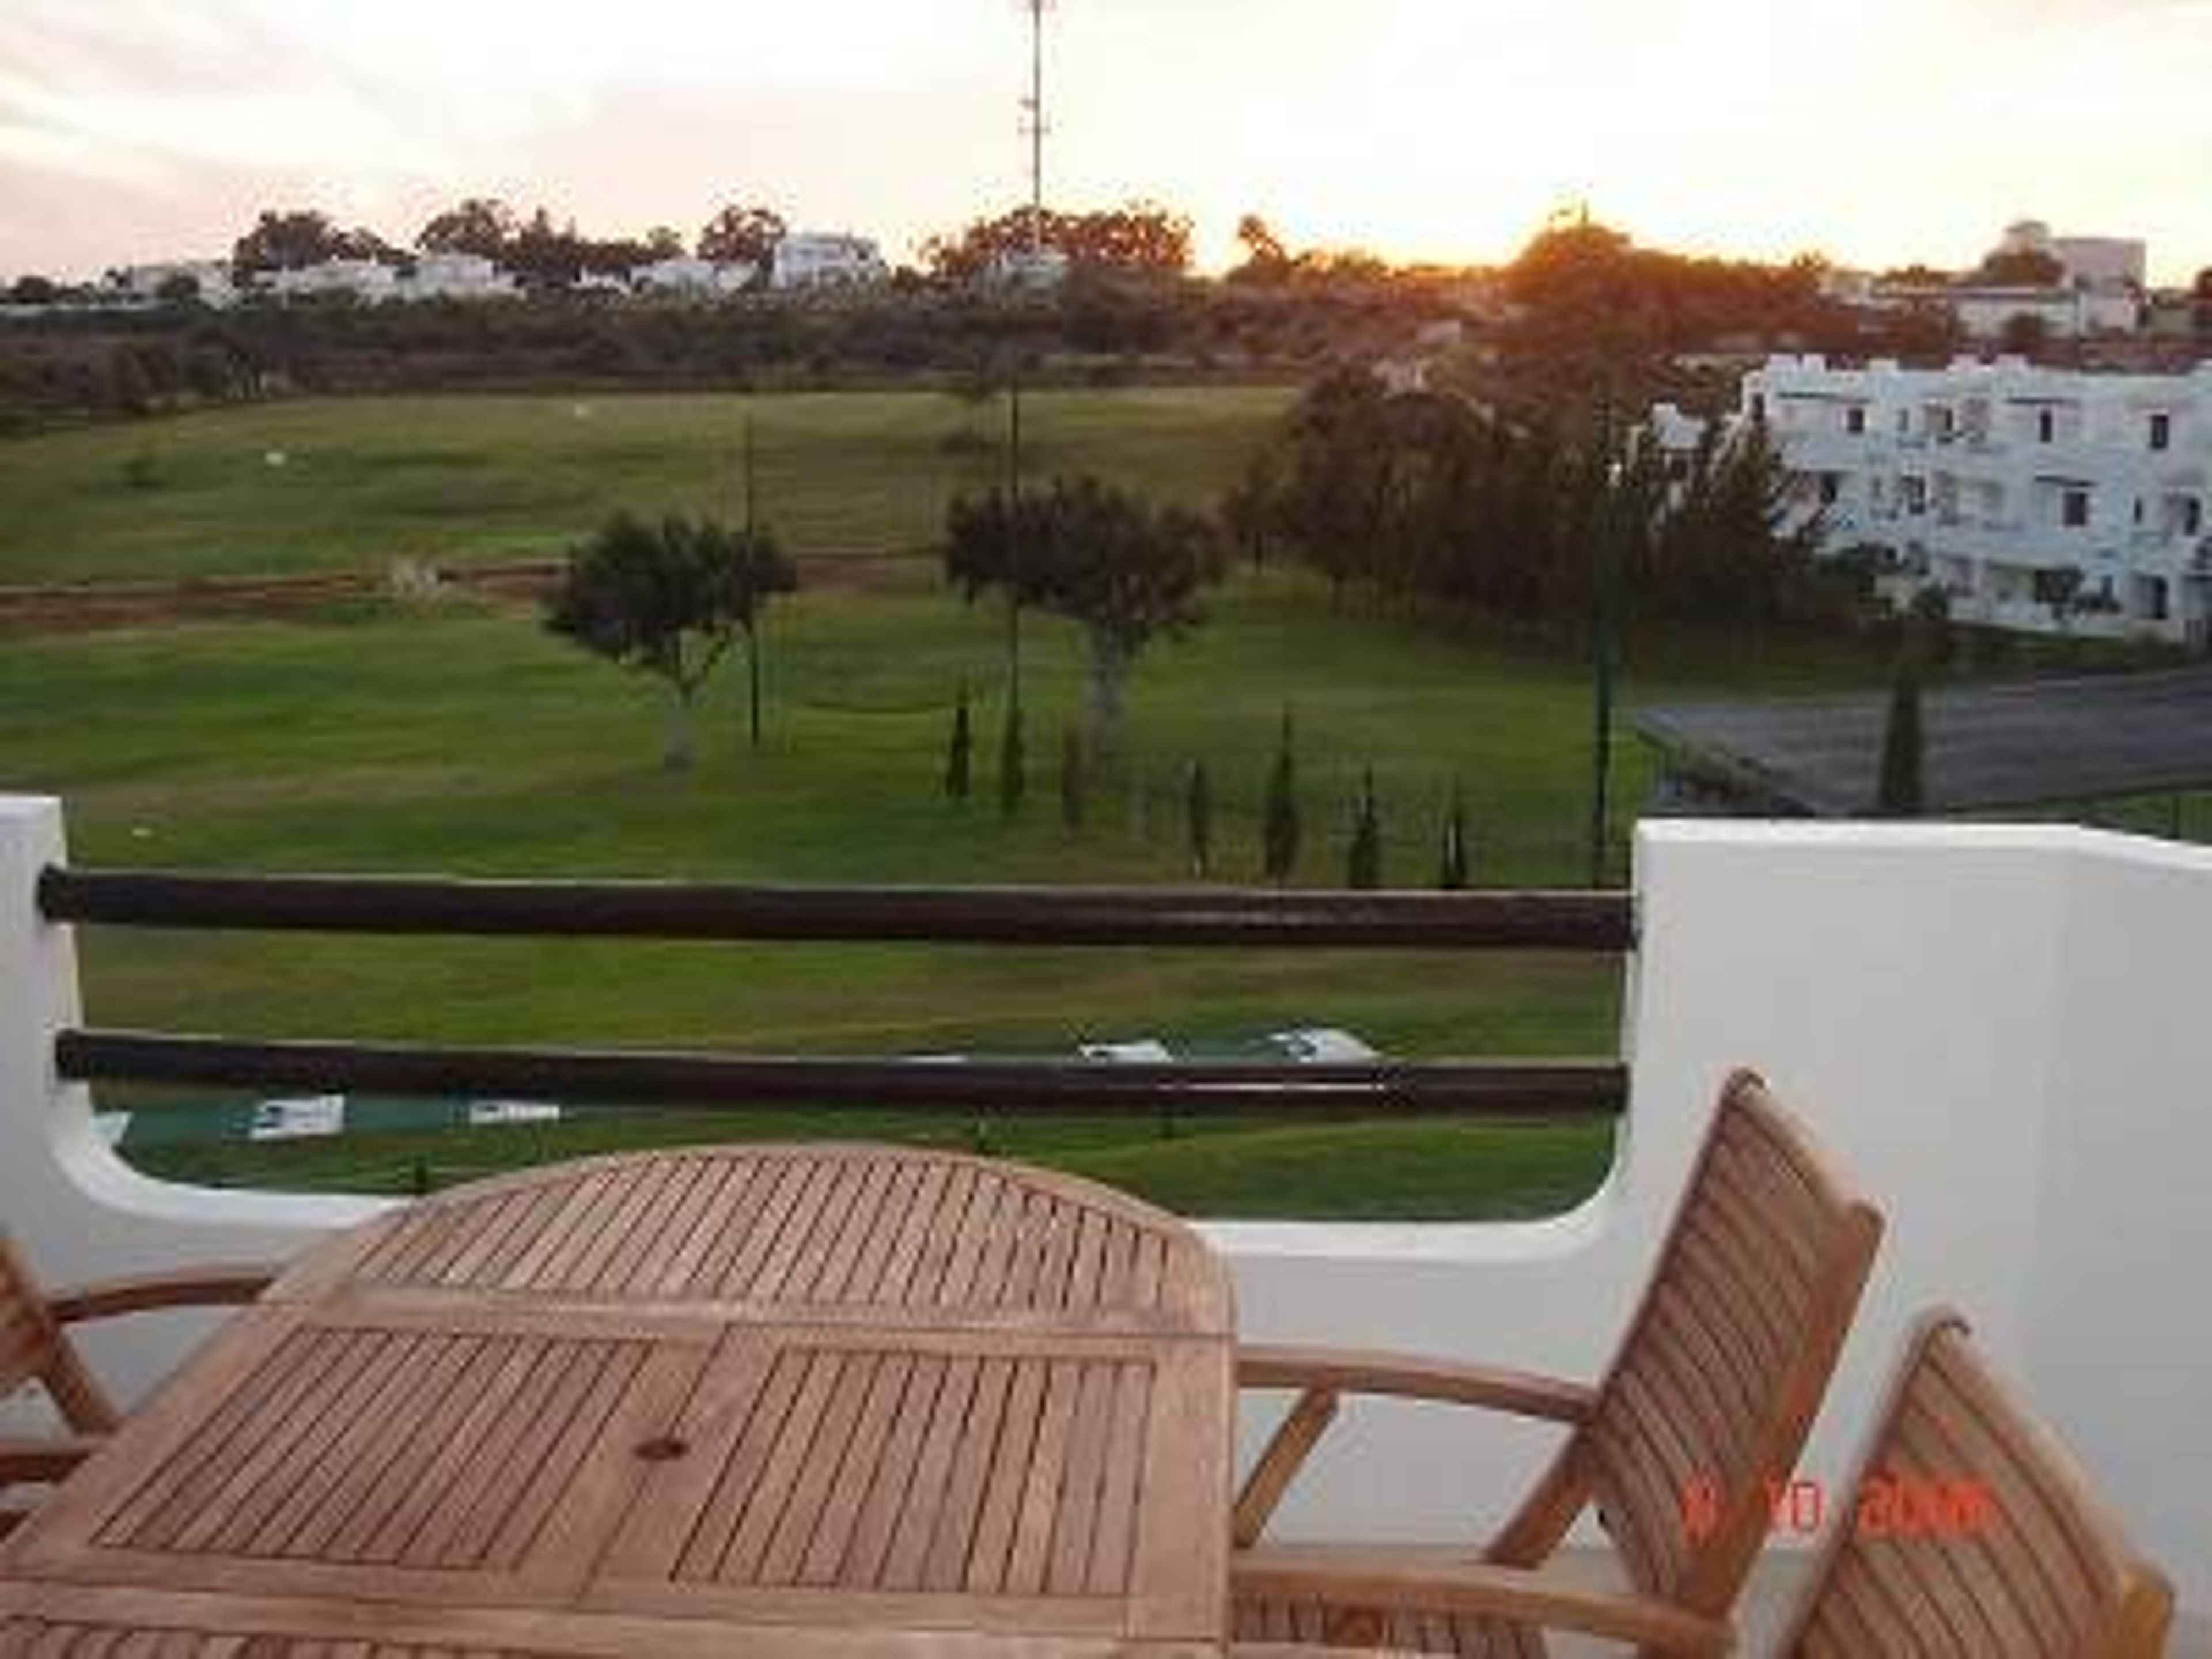
[[[84, 1018], [73, 929], [38, 900], [49, 867], [66, 867], [60, 807], [0, 799], [0, 1212], [42, 1270], [283, 1256], [372, 1212], [170, 1186], [115, 1157], [58, 1064]], [[1752, 1064], [1889, 1217], [1803, 1473], [1840, 1489], [1911, 1314], [1953, 1303], [2181, 1606], [2212, 1613], [2212, 1110], [2194, 1042], [2212, 852], [2068, 827], [1648, 821], [1632, 909], [1628, 1099], [1597, 1194], [1515, 1223], [1206, 1223], [1241, 1334], [1597, 1374], [1714, 1088]], [[199, 1332], [164, 1314], [91, 1349], [144, 1391]], [[1276, 1533], [1482, 1535], [1551, 1442], [1464, 1416], [1347, 1407]], [[1267, 1427], [1245, 1425], [1245, 1455]], [[1778, 1553], [1767, 1575], [1787, 1573]]]

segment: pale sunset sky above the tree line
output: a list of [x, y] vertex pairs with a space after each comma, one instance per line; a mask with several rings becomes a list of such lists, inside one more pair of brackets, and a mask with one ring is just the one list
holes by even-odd
[[[0, 276], [228, 252], [261, 206], [409, 241], [498, 195], [611, 234], [721, 201], [891, 259], [1024, 190], [1018, 0], [0, 0]], [[2212, 265], [2212, 0], [1060, 0], [1048, 197], [1221, 263], [1644, 243], [1969, 263], [2008, 219]]]

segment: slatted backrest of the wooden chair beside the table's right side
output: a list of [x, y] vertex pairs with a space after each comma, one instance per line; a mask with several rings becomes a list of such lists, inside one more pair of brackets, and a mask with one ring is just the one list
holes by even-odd
[[1630, 1579], [1736, 1599], [1858, 1310], [1880, 1214], [1734, 1073], [1590, 1422], [1562, 1451]]

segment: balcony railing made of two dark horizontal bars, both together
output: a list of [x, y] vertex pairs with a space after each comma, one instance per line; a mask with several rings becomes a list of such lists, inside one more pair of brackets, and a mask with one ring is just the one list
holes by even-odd
[[[49, 922], [378, 936], [874, 940], [1053, 947], [1287, 947], [1624, 953], [1626, 894], [1272, 894], [1230, 889], [734, 887], [71, 869]], [[993, 1108], [1290, 1115], [1619, 1113], [1617, 1060], [1128, 1064], [860, 1060], [591, 1048], [438, 1048], [66, 1029], [71, 1082], [553, 1097], [599, 1106]]]

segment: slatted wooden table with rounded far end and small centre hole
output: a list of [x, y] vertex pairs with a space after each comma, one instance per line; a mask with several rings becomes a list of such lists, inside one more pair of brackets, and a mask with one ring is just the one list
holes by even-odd
[[1208, 1655], [1232, 1418], [1219, 1263], [1104, 1188], [566, 1164], [303, 1256], [11, 1540], [0, 1655]]

